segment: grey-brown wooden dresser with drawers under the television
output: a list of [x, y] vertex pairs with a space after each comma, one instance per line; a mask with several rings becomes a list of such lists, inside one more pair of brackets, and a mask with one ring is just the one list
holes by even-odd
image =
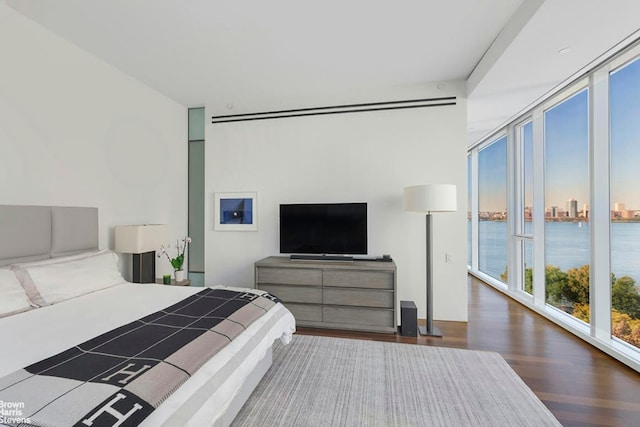
[[256, 288], [280, 298], [300, 326], [396, 332], [393, 261], [292, 261], [255, 264]]

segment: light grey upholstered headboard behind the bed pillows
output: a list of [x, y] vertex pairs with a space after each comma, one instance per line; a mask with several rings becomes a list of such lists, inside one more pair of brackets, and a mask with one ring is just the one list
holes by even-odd
[[98, 209], [0, 205], [0, 266], [98, 249]]

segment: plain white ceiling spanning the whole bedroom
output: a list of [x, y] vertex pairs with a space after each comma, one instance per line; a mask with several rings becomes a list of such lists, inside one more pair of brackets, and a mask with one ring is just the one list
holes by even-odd
[[470, 142], [640, 28], [638, 0], [6, 3], [186, 107], [319, 106], [468, 79]]

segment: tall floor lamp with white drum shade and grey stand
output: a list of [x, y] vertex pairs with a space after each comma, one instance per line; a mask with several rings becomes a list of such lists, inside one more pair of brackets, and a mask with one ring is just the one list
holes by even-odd
[[431, 212], [456, 211], [456, 186], [453, 184], [427, 184], [405, 187], [404, 210], [426, 213], [426, 258], [427, 258], [427, 324], [418, 327], [420, 335], [441, 337], [442, 333], [433, 326], [433, 232]]

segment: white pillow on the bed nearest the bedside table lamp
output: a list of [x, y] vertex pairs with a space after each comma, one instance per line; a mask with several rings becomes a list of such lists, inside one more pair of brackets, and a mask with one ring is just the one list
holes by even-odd
[[100, 251], [91, 256], [76, 257], [72, 256], [68, 261], [36, 262], [12, 268], [15, 268], [31, 302], [38, 306], [55, 304], [125, 283], [118, 270], [115, 253]]

